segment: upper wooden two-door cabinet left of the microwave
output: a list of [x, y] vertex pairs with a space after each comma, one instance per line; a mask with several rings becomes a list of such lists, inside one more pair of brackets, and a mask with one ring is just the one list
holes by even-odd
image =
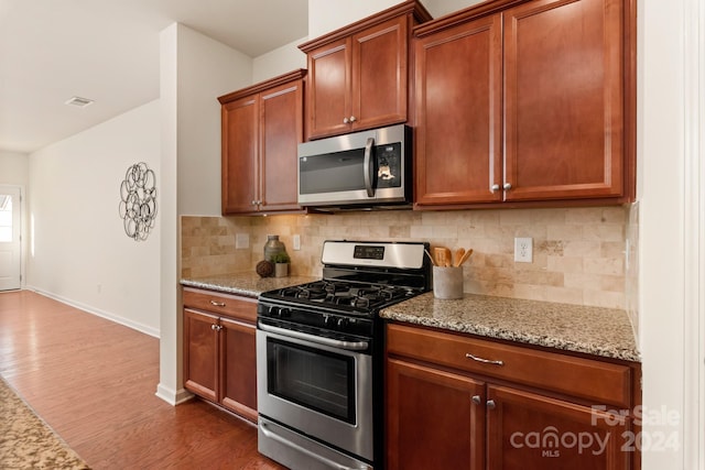
[[221, 96], [224, 215], [296, 212], [303, 79], [295, 70]]

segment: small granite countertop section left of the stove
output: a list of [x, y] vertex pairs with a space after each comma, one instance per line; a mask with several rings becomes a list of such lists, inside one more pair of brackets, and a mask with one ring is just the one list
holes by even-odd
[[254, 272], [241, 272], [207, 277], [183, 278], [181, 280], [181, 284], [187, 287], [207, 288], [210, 291], [224, 292], [226, 294], [257, 297], [267, 291], [275, 291], [278, 288], [305, 284], [317, 280], [319, 280], [319, 277], [260, 277]]

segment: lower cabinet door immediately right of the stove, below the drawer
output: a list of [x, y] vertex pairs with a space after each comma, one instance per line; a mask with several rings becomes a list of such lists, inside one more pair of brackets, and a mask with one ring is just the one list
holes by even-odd
[[484, 468], [482, 382], [395, 359], [387, 381], [389, 469]]

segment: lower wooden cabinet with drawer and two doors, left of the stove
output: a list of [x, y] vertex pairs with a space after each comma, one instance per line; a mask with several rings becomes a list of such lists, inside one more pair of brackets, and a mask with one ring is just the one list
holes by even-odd
[[184, 387], [257, 423], [257, 300], [184, 288]]

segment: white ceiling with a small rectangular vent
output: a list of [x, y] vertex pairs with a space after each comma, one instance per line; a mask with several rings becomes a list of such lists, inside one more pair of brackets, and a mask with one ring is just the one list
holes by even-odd
[[[159, 98], [180, 22], [251, 57], [308, 33], [307, 0], [0, 0], [0, 151], [31, 153]], [[74, 96], [86, 108], [64, 105]]]

